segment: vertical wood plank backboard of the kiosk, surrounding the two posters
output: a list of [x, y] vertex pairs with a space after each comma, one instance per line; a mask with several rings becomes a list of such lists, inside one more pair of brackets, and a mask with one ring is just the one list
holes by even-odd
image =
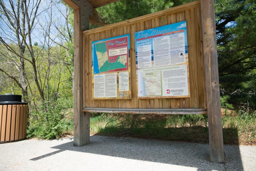
[[[204, 62], [202, 57], [200, 1], [180, 5], [83, 32], [83, 107], [90, 108], [206, 108]], [[135, 32], [187, 21], [190, 98], [137, 99], [135, 70]], [[129, 100], [92, 100], [92, 41], [130, 34], [131, 87]]]

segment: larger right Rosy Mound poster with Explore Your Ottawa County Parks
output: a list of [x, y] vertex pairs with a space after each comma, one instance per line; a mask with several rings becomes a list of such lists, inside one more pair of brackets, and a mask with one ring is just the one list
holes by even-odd
[[135, 33], [138, 98], [190, 97], [186, 21]]

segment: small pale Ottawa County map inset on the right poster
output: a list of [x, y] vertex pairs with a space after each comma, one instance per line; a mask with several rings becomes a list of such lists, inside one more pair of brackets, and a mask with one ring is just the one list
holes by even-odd
[[162, 95], [161, 71], [143, 72], [142, 77], [145, 83], [145, 95]]

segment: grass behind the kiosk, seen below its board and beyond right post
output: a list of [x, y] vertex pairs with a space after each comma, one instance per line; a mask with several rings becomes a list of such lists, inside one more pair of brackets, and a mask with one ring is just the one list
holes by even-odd
[[[248, 106], [242, 106], [238, 111], [226, 111], [225, 113], [222, 117], [224, 144], [254, 144], [256, 142], [256, 112]], [[139, 115], [137, 124], [129, 133], [124, 131], [128, 126], [117, 124], [127, 123], [124, 122], [125, 118], [130, 122], [133, 115], [127, 114], [118, 119], [120, 116], [122, 114], [92, 114], [91, 134], [209, 142], [207, 116], [205, 115]], [[110, 122], [111, 120], [115, 121]], [[106, 123], [108, 123], [107, 126]]]

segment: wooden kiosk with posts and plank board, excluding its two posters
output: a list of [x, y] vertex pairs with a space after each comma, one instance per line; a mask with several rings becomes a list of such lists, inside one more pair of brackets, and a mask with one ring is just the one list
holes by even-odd
[[[108, 25], [95, 8], [117, 0], [63, 0], [74, 9], [74, 146], [90, 142], [90, 113], [207, 114], [210, 161], [224, 163], [218, 59], [213, 0], [198, 0], [153, 14]], [[187, 22], [189, 98], [138, 99], [136, 31]], [[103, 25], [89, 29], [89, 22]], [[92, 42], [130, 34], [132, 99], [92, 100]]]

